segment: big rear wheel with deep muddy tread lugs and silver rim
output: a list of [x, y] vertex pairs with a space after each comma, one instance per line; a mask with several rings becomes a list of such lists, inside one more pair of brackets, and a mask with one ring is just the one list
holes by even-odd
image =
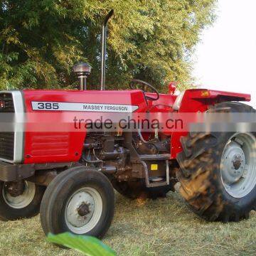
[[[212, 112], [255, 112], [224, 102]], [[256, 206], [256, 139], [250, 132], [191, 133], [181, 139], [178, 155], [180, 192], [193, 211], [206, 220], [248, 218]]]

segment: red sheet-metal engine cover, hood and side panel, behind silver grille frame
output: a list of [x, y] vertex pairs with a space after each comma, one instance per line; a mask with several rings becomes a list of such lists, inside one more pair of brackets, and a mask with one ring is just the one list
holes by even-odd
[[[26, 105], [24, 163], [78, 161], [85, 141], [85, 129], [75, 129], [76, 116], [88, 112], [35, 110], [32, 102], [69, 102], [137, 106], [144, 111], [146, 102], [140, 90], [132, 91], [62, 91], [24, 90]], [[70, 104], [71, 106], [72, 104]], [[101, 112], [95, 112], [100, 117]]]

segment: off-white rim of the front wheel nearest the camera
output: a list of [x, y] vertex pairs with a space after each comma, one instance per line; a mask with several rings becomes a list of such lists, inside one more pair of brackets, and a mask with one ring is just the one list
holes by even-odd
[[95, 188], [80, 188], [70, 196], [65, 207], [65, 223], [76, 234], [95, 228], [101, 215], [102, 198]]

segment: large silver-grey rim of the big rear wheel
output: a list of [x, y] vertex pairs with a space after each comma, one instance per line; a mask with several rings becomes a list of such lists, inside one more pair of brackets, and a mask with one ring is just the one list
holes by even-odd
[[256, 139], [237, 133], [225, 145], [220, 164], [225, 190], [234, 198], [247, 196], [256, 186]]

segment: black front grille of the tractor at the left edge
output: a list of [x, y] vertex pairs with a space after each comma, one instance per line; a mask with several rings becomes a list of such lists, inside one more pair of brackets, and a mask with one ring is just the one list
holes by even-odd
[[[11, 93], [0, 93], [0, 114], [14, 112], [13, 95]], [[0, 158], [14, 160], [14, 132], [0, 132]]]

